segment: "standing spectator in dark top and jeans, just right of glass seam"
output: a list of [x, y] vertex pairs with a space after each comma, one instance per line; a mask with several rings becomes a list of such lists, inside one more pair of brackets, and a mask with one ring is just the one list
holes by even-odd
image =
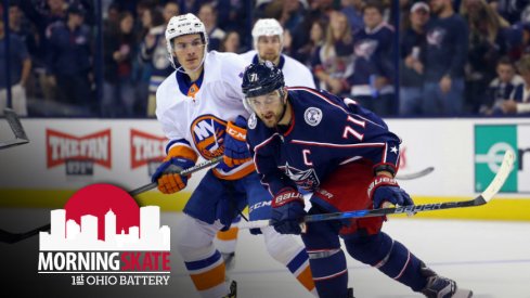
[[411, 7], [410, 27], [401, 38], [401, 74], [399, 93], [399, 114], [416, 116], [423, 114], [424, 66], [419, 60], [421, 49], [425, 49], [425, 24], [429, 20], [430, 9], [425, 2]]

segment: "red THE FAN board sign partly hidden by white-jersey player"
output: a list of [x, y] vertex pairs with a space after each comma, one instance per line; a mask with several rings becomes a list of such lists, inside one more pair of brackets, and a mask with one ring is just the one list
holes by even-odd
[[167, 139], [131, 129], [131, 169], [147, 165], [148, 176], [153, 176], [166, 157]]

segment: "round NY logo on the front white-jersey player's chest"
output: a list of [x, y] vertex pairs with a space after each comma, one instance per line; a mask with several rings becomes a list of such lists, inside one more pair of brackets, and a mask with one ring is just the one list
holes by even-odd
[[193, 143], [204, 158], [222, 155], [225, 128], [227, 122], [214, 115], [203, 115], [192, 122], [190, 130]]

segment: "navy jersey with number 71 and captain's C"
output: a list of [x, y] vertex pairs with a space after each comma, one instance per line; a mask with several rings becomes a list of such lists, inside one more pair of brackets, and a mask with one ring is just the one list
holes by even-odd
[[288, 89], [293, 118], [285, 130], [268, 128], [253, 114], [247, 142], [261, 182], [275, 195], [284, 187], [313, 191], [341, 165], [399, 163], [400, 139], [374, 113], [323, 90]]

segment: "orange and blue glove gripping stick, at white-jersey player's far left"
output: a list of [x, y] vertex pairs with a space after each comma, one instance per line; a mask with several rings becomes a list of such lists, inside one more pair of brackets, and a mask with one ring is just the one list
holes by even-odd
[[181, 191], [188, 184], [189, 176], [180, 176], [178, 172], [193, 167], [195, 163], [183, 157], [166, 157], [165, 161], [151, 177], [152, 182], [158, 183], [158, 190], [164, 194], [172, 194]]

